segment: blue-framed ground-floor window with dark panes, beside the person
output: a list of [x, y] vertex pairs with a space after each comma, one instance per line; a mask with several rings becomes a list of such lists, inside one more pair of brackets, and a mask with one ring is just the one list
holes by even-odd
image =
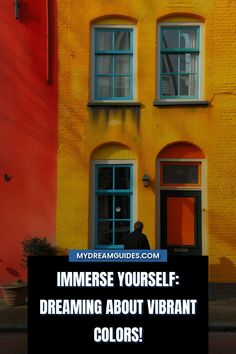
[[131, 231], [133, 209], [132, 165], [95, 167], [95, 248], [123, 248]]

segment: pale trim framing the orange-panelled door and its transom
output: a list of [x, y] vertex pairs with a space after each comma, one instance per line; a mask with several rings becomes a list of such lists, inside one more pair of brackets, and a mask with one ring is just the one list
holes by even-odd
[[[201, 187], [168, 187], [161, 186], [160, 181], [160, 171], [161, 171], [161, 162], [201, 162]], [[205, 256], [208, 254], [208, 240], [207, 240], [207, 164], [205, 159], [180, 159], [180, 158], [160, 158], [157, 160], [157, 232], [156, 232], [156, 247], [160, 248], [161, 244], [161, 190], [192, 190], [192, 191], [201, 191], [202, 192], [202, 255]]]

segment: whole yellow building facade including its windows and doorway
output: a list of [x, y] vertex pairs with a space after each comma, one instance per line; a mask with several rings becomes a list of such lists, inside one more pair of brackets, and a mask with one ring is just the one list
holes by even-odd
[[57, 243], [208, 255], [236, 281], [236, 3], [58, 1]]

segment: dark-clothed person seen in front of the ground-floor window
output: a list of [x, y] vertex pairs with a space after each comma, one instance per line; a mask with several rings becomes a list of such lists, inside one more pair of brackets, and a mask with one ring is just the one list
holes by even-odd
[[134, 231], [124, 237], [124, 249], [150, 249], [148, 238], [142, 231], [143, 223], [136, 221], [134, 223]]

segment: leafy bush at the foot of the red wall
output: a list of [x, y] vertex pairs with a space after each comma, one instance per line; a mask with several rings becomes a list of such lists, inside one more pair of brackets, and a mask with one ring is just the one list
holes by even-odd
[[22, 241], [23, 257], [22, 266], [27, 266], [28, 256], [56, 256], [57, 247], [52, 245], [46, 237], [28, 235]]

